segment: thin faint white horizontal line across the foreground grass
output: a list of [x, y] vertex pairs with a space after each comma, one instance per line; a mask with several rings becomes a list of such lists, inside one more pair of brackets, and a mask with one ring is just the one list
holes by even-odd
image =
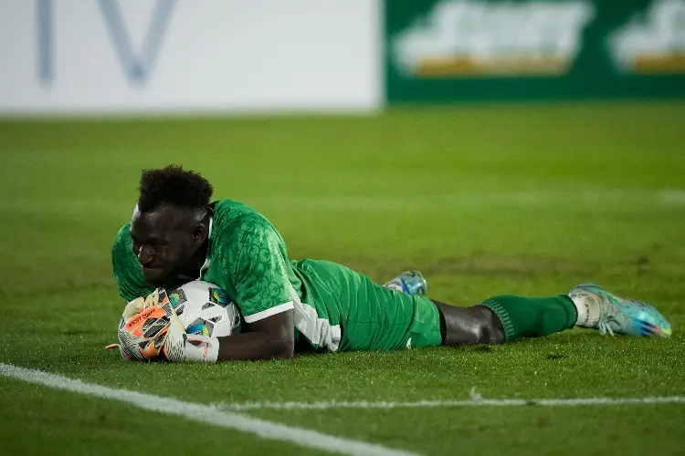
[[683, 396], [656, 398], [580, 398], [580, 399], [462, 399], [416, 400], [414, 402], [246, 402], [221, 404], [217, 407], [232, 411], [256, 409], [418, 409], [426, 407], [577, 407], [606, 405], [685, 404]]

